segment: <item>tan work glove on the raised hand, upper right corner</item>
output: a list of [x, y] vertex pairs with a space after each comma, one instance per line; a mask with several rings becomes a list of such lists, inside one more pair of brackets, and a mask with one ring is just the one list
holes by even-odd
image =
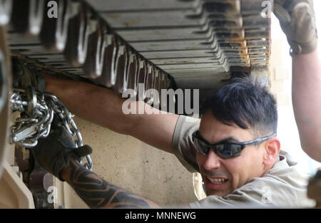
[[274, 14], [287, 36], [291, 56], [312, 53], [317, 49], [312, 0], [274, 0]]

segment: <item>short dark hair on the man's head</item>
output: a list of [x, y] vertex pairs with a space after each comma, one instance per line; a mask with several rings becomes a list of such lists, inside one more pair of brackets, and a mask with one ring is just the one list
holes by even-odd
[[257, 79], [235, 78], [218, 88], [203, 103], [201, 113], [207, 110], [225, 125], [253, 128], [261, 136], [277, 131], [275, 98]]

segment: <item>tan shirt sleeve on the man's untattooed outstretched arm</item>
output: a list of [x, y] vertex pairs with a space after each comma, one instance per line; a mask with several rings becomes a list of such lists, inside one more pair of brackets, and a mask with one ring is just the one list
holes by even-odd
[[199, 128], [200, 119], [180, 115], [173, 134], [173, 153], [190, 172], [199, 172], [196, 162], [196, 149], [192, 137], [193, 133]]

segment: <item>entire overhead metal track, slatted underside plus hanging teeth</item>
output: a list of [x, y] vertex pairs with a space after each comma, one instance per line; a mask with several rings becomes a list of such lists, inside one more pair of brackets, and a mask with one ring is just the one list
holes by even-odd
[[[18, 4], [15, 0], [12, 15], [21, 10]], [[208, 88], [208, 77], [215, 87], [219, 76], [223, 79], [235, 68], [251, 71], [270, 63], [270, 19], [263, 16], [263, 0], [59, 0], [58, 5], [61, 18], [51, 21], [32, 13], [41, 4], [24, 2], [29, 10], [18, 17], [36, 22], [12, 20], [11, 49], [53, 73], [85, 78], [118, 93], [136, 92], [149, 76], [157, 85], [156, 73], [183, 83], [179, 88], [195, 81], [200, 89], [202, 84]], [[125, 56], [119, 46], [126, 48]], [[156, 72], [143, 76], [139, 61]]]

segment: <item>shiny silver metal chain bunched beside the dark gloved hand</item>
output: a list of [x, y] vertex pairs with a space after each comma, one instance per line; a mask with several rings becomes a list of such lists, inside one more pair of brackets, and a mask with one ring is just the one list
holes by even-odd
[[[11, 108], [20, 112], [20, 117], [16, 118], [14, 125], [11, 126], [11, 144], [35, 147], [39, 138], [46, 138], [49, 135], [54, 115], [58, 115], [66, 130], [72, 136], [76, 136], [76, 147], [83, 145], [73, 115], [55, 95], [35, 90], [14, 89], [11, 93]], [[86, 155], [86, 160], [84, 166], [91, 170], [93, 166], [91, 156]]]

